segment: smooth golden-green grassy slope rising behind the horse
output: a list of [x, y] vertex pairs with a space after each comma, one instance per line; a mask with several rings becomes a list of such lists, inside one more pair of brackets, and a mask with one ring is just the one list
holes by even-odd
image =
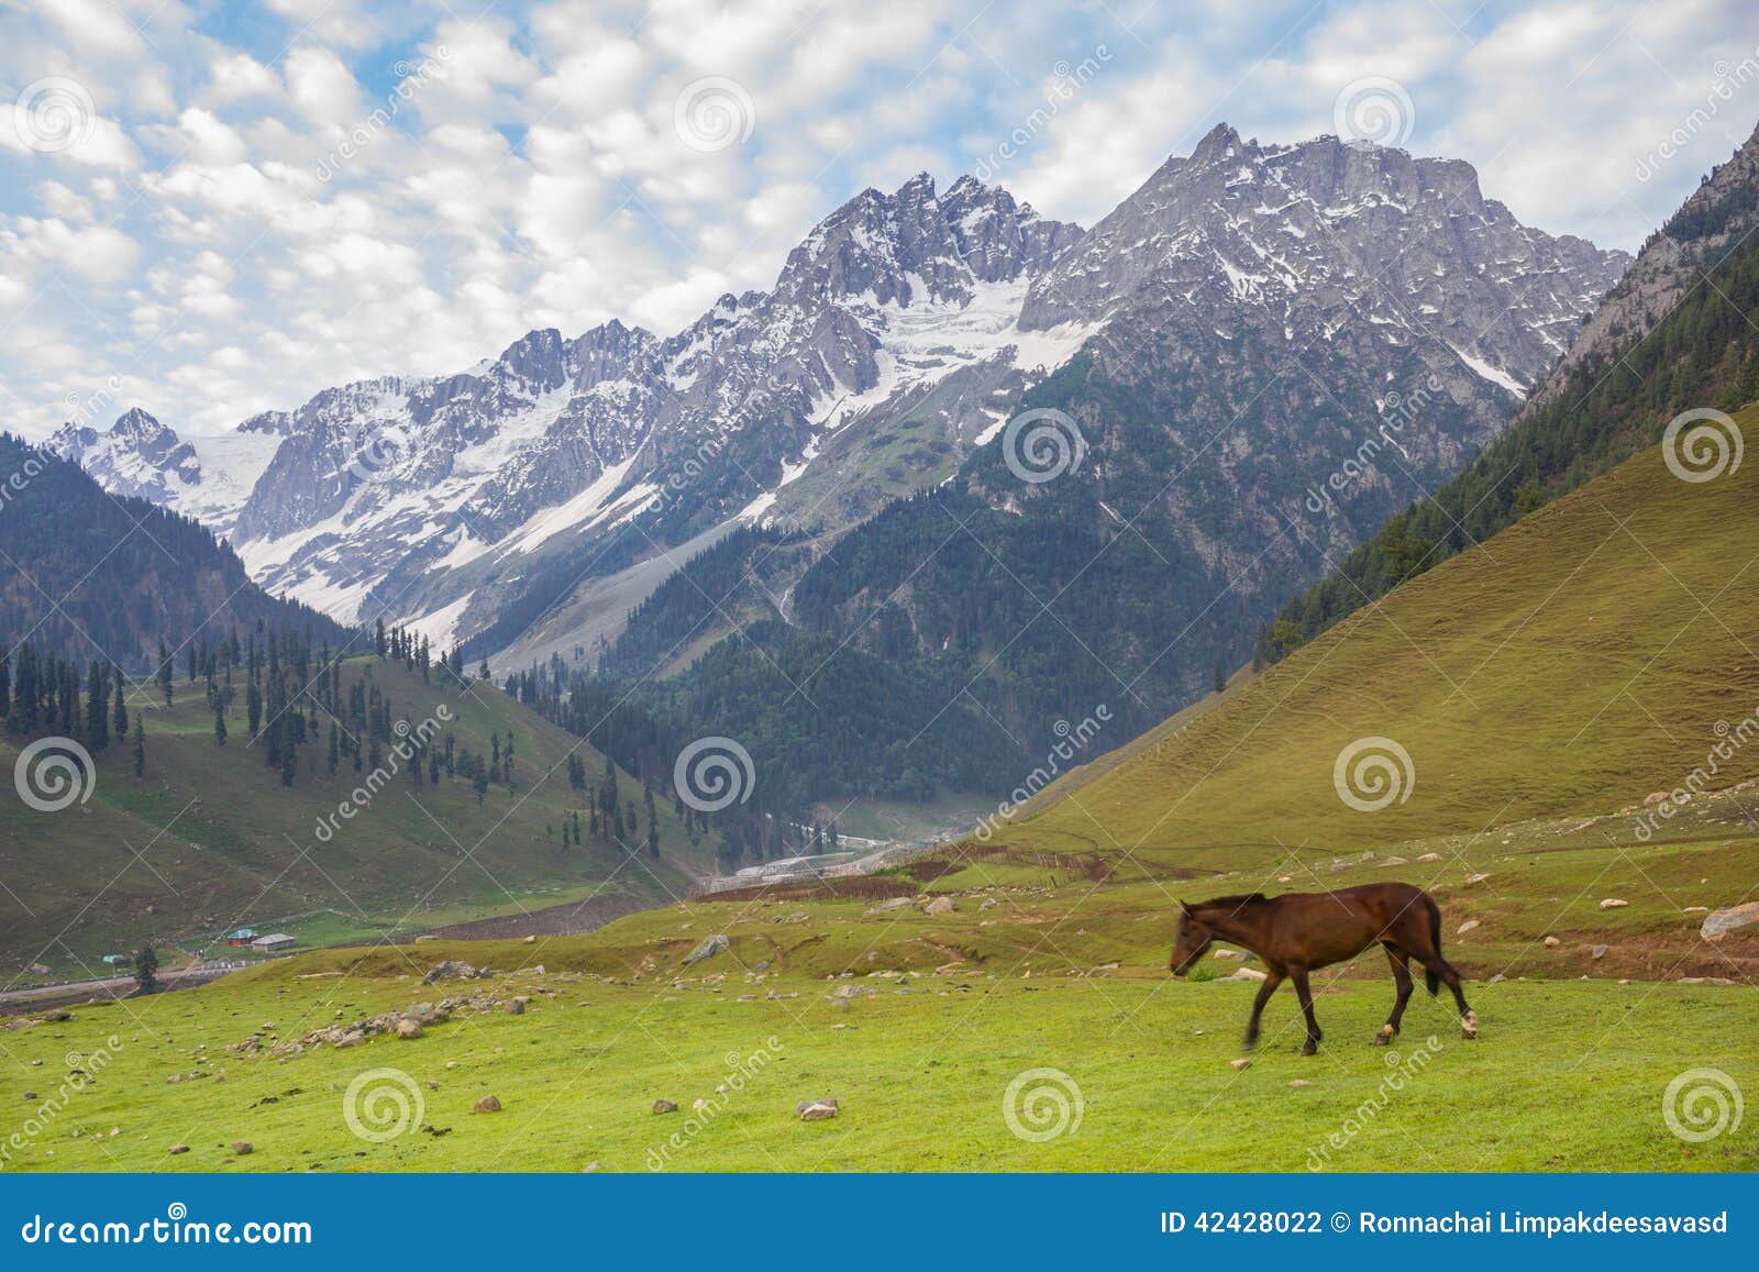
[[[1738, 422], [1759, 431], [1759, 408]], [[1759, 707], [1755, 540], [1759, 464], [1687, 484], [1645, 450], [1237, 684], [997, 841], [1249, 864], [1474, 837], [1641, 806], [1704, 765], [1729, 730], [1736, 744], [1710, 788], [1734, 786], [1759, 776], [1759, 746], [1741, 746], [1738, 728]], [[1374, 813], [1333, 790], [1339, 753], [1365, 737], [1398, 742], [1414, 774], [1402, 802]], [[1629, 844], [1636, 818], [1574, 836]]]

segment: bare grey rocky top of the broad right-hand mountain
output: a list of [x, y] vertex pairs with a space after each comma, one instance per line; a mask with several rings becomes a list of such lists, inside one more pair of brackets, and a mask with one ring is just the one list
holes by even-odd
[[1223, 338], [1251, 322], [1303, 343], [1367, 322], [1523, 396], [1629, 262], [1523, 227], [1471, 164], [1337, 137], [1261, 146], [1223, 125], [1033, 285], [1022, 327], [1164, 304]]

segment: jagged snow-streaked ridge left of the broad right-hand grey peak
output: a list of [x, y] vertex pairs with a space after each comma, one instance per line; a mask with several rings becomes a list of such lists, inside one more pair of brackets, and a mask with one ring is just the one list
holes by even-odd
[[[266, 586], [343, 621], [387, 610], [431, 616], [443, 642], [470, 635], [533, 554], [637, 517], [654, 545], [762, 517], [832, 435], [890, 419], [897, 398], [1066, 357], [1069, 333], [1024, 338], [1017, 318], [1078, 238], [973, 178], [945, 195], [927, 174], [865, 190], [774, 290], [725, 296], [670, 340], [619, 322], [535, 331], [459, 375], [352, 384], [246, 420], [285, 442], [229, 530]], [[955, 413], [967, 435], [985, 422]], [[948, 457], [906, 461], [904, 489]], [[834, 507], [864, 489], [844, 480]]]

